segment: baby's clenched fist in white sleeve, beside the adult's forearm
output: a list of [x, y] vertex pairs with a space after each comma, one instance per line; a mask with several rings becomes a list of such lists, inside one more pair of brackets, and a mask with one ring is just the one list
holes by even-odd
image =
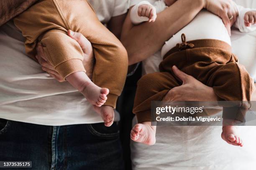
[[147, 17], [148, 22], [155, 22], [156, 20], [156, 9], [152, 5], [142, 4], [138, 7], [138, 15], [140, 17]]

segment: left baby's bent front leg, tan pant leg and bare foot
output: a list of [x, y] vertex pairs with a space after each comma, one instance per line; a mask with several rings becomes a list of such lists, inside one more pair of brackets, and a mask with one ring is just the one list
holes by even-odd
[[92, 105], [105, 103], [108, 89], [95, 85], [85, 74], [83, 52], [66, 32], [51, 30], [41, 38], [46, 57], [59, 74], [81, 92]]

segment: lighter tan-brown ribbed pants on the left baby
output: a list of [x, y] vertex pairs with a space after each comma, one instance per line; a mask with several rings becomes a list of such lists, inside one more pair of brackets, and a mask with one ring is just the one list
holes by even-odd
[[83, 52], [67, 35], [67, 30], [82, 33], [95, 55], [93, 82], [110, 90], [105, 105], [115, 108], [123, 90], [128, 68], [127, 52], [121, 42], [100, 23], [86, 0], [39, 0], [14, 19], [26, 37], [28, 56], [36, 60], [36, 43], [45, 47], [46, 57], [62, 77], [84, 71]]

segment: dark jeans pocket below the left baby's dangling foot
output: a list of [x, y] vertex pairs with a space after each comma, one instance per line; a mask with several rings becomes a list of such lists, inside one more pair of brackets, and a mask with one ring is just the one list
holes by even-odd
[[119, 137], [119, 128], [116, 122], [114, 122], [110, 127], [106, 127], [104, 123], [88, 124], [87, 128], [89, 132], [96, 137], [105, 139], [114, 139]]

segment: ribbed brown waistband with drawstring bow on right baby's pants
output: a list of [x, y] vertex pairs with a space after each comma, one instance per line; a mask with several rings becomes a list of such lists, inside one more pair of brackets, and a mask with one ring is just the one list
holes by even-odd
[[[195, 48], [201, 48], [201, 47], [210, 47], [210, 48], [218, 48], [222, 50], [227, 50], [231, 52], [231, 46], [224, 41], [221, 40], [215, 40], [215, 39], [201, 39], [201, 40], [192, 40], [192, 41], [187, 41], [187, 45], [189, 45], [187, 48], [185, 47], [184, 50], [187, 49], [195, 49]], [[164, 58], [167, 57], [168, 55], [171, 55], [174, 52], [182, 51], [180, 47], [184, 44], [177, 44], [175, 47], [173, 47], [171, 50], [169, 50], [165, 55]], [[192, 46], [193, 47], [192, 47]]]

